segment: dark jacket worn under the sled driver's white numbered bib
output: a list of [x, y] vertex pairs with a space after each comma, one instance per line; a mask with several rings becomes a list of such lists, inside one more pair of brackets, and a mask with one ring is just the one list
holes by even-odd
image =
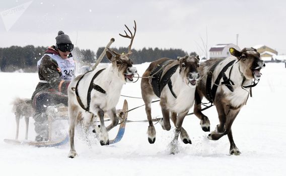
[[[51, 46], [47, 49], [45, 54], [56, 54], [59, 53], [54, 49], [54, 46]], [[72, 57], [72, 54], [69, 54], [69, 57]], [[60, 68], [55, 60], [53, 60], [48, 55], [45, 55], [42, 58], [40, 66], [38, 68], [38, 74], [40, 80], [46, 80], [48, 83], [39, 82], [36, 86], [36, 90], [32, 95], [32, 100], [34, 96], [40, 91], [58, 91], [67, 95], [67, 87], [70, 81], [62, 80], [60, 76], [62, 75]]]

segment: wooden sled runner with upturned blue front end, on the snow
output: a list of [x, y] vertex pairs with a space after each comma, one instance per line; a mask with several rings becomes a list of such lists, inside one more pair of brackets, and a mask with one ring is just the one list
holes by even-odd
[[[127, 122], [127, 116], [128, 116], [128, 103], [126, 100], [124, 100], [123, 103], [123, 108], [120, 111], [121, 113], [119, 113], [119, 118], [120, 118], [120, 126], [117, 132], [117, 135], [114, 139], [109, 141], [109, 144], [114, 144], [119, 142], [125, 132], [125, 125]], [[49, 128], [49, 130], [51, 130]], [[4, 139], [4, 142], [8, 143], [8, 144], [14, 144], [14, 145], [31, 145], [31, 146], [36, 146], [36, 147], [56, 147], [56, 146], [60, 146], [60, 145], [64, 145], [66, 143], [68, 143], [69, 141], [69, 137], [68, 135], [66, 135], [64, 138], [57, 140], [57, 141], [42, 141], [42, 142], [36, 142], [36, 141], [29, 141], [29, 140], [18, 140], [18, 139]]]

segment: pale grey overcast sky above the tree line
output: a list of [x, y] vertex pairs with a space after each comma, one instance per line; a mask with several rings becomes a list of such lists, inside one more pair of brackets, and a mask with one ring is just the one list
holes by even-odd
[[[0, 47], [51, 46], [59, 30], [81, 49], [96, 51], [111, 37], [113, 46], [127, 47], [129, 40], [118, 33], [124, 34], [124, 24], [132, 28], [135, 20], [135, 49], [181, 48], [204, 55], [201, 48], [206, 41], [208, 49], [219, 43], [236, 44], [239, 34], [241, 49], [264, 44], [286, 54], [284, 0], [1, 0], [0, 13]], [[23, 14], [16, 21], [17, 13]]]

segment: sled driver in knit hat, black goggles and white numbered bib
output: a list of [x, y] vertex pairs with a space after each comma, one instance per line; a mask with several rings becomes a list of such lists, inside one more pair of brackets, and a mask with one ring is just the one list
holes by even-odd
[[68, 35], [58, 32], [56, 45], [49, 47], [37, 62], [39, 83], [32, 96], [36, 110], [36, 141], [48, 140], [48, 120], [45, 113], [48, 106], [62, 103], [67, 106], [67, 87], [75, 78], [75, 60], [72, 53], [74, 45]]

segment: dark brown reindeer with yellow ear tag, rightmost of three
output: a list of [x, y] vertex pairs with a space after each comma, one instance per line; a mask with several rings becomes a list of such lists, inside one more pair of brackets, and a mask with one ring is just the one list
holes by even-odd
[[209, 122], [201, 112], [201, 99], [205, 97], [215, 104], [220, 124], [208, 135], [208, 139], [218, 140], [228, 135], [230, 154], [239, 155], [241, 152], [234, 143], [231, 127], [247, 102], [247, 89], [250, 89], [251, 96], [251, 87], [257, 84], [253, 79], [259, 80], [260, 69], [265, 64], [254, 48], [244, 48], [241, 51], [230, 48], [230, 53], [232, 56], [226, 59], [209, 59], [200, 64], [201, 79], [197, 83], [194, 114], [201, 121]]

